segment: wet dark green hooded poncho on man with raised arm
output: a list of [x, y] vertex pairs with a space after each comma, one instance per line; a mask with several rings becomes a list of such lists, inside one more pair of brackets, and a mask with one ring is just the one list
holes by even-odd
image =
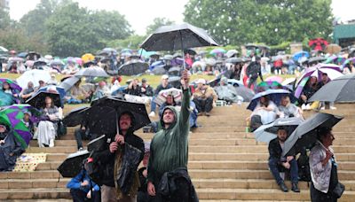
[[165, 172], [173, 171], [177, 167], [187, 167], [189, 108], [190, 91], [183, 89], [180, 113], [177, 113], [174, 106], [166, 106], [164, 109], [164, 111], [170, 109], [175, 114], [175, 121], [169, 128], [165, 128], [162, 116], [160, 120], [162, 129], [154, 135], [150, 144], [147, 177], [154, 185], [160, 182]]

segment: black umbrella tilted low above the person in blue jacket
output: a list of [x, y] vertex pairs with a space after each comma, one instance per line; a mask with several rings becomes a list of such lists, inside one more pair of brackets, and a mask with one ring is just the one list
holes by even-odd
[[83, 160], [87, 159], [90, 152], [87, 150], [77, 151], [75, 153], [69, 154], [67, 159], [60, 164], [57, 168], [59, 174], [63, 177], [75, 177], [80, 173], [83, 167]]

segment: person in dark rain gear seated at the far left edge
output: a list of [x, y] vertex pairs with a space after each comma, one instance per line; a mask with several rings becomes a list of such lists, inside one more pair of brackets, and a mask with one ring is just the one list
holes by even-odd
[[12, 129], [0, 123], [0, 172], [12, 171], [24, 151]]

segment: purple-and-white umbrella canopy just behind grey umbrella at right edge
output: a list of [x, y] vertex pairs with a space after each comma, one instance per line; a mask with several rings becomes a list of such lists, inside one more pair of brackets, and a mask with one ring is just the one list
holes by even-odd
[[318, 81], [321, 80], [322, 74], [327, 74], [327, 77], [330, 80], [334, 80], [342, 76], [340, 66], [332, 65], [332, 64], [318, 64], [317, 66], [309, 67], [305, 70], [304, 74], [301, 75], [300, 79], [296, 82], [296, 90], [295, 97], [300, 97], [302, 91], [304, 90], [304, 86], [306, 85], [308, 79], [311, 76], [317, 77]]

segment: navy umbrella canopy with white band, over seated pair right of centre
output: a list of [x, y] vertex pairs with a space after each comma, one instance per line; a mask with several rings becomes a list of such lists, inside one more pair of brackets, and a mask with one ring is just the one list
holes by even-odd
[[276, 105], [280, 105], [281, 97], [289, 96], [290, 94], [291, 92], [286, 89], [268, 89], [264, 92], [257, 93], [250, 101], [247, 109], [253, 111], [256, 108], [260, 97], [264, 96], [269, 96], [270, 100], [272, 100]]

